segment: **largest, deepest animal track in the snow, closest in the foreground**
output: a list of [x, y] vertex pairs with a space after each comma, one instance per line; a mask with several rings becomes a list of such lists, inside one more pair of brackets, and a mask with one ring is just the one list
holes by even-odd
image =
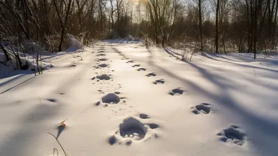
[[[156, 129], [158, 124], [156, 123], [141, 123], [137, 118], [129, 117], [125, 118], [124, 121], [119, 125], [119, 129], [108, 138], [108, 143], [111, 145], [115, 143], [125, 145], [131, 145], [133, 141], [140, 141], [145, 138], [151, 139], [149, 131]], [[157, 138], [157, 134], [154, 134]]]

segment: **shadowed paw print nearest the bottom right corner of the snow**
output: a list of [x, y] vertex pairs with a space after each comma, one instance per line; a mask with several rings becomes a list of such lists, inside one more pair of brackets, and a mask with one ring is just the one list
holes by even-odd
[[236, 125], [231, 125], [231, 127], [222, 130], [222, 132], [217, 135], [220, 137], [221, 141], [235, 143], [236, 145], [243, 146], [246, 140], [246, 134], [240, 132], [239, 127]]

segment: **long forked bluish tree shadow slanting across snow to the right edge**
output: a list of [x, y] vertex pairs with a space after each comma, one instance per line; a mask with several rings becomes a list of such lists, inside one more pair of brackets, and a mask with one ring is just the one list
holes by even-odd
[[[149, 59], [152, 59], [151, 57]], [[194, 88], [195, 91], [198, 93], [201, 93], [203, 95], [206, 95], [206, 97], [211, 98], [212, 100], [215, 100], [220, 104], [220, 106], [224, 107], [225, 109], [229, 110], [230, 112], [234, 112], [236, 114], [236, 118], [241, 118], [243, 120], [243, 123], [248, 123], [248, 127], [251, 129], [256, 130], [256, 132], [259, 132], [259, 134], [265, 134], [272, 138], [272, 141], [275, 141], [277, 143], [278, 141], [278, 125], [274, 121], [267, 120], [265, 118], [261, 118], [261, 116], [256, 116], [256, 114], [252, 114], [251, 112], [239, 107], [239, 104], [231, 98], [231, 95], [228, 93], [229, 86], [227, 84], [222, 83], [221, 81], [218, 81], [218, 79], [215, 79], [215, 76], [212, 75], [210, 72], [205, 70], [204, 68], [201, 68], [194, 63], [188, 63], [190, 67], [195, 68], [199, 73], [204, 75], [204, 77], [211, 81], [215, 86], [218, 87], [220, 95], [213, 94], [209, 91], [205, 91], [203, 88], [199, 87], [197, 83], [194, 83], [193, 81], [189, 81], [187, 79], [183, 79], [182, 77], [179, 77], [175, 75], [173, 72], [170, 72], [169, 70], [166, 70], [165, 68], [161, 68], [160, 66], [156, 65], [155, 63], [152, 63], [152, 65], [157, 68], [158, 70], [161, 70], [166, 75], [177, 79], [178, 81], [183, 82], [184, 84], [190, 86], [191, 88]], [[273, 71], [277, 72], [277, 71]], [[225, 79], [222, 77], [222, 79]], [[226, 118], [228, 119], [229, 116], [227, 115]], [[265, 141], [265, 143], [267, 143]], [[269, 143], [268, 143], [269, 144]], [[272, 145], [272, 144], [271, 144]], [[275, 148], [275, 144], [272, 145], [272, 149]], [[268, 149], [262, 149], [261, 146], [256, 146], [258, 150], [264, 150], [266, 153]], [[269, 152], [268, 152], [269, 153]]]

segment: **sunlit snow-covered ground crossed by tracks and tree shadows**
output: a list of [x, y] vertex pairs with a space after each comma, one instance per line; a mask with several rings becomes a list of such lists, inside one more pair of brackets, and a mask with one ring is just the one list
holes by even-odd
[[167, 52], [100, 42], [0, 79], [0, 155], [63, 155], [47, 132], [67, 155], [278, 155], [278, 56]]

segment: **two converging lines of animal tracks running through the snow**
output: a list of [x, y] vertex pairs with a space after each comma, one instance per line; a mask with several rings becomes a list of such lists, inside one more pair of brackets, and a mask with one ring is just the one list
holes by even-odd
[[[112, 48], [113, 51], [119, 56], [122, 56], [122, 60], [129, 60], [126, 58], [126, 56], [120, 52], [116, 48]], [[98, 49], [98, 54], [96, 56], [106, 56], [104, 54], [104, 47], [101, 47]], [[100, 58], [96, 59], [97, 62], [104, 62], [108, 61], [108, 59]], [[126, 63], [135, 63], [133, 60], [126, 61]], [[98, 63], [94, 66], [94, 68], [109, 68], [108, 63]], [[146, 71], [147, 68], [142, 68], [140, 64], [134, 64], [131, 66], [132, 68], [137, 68], [137, 70], [140, 71]], [[93, 77], [92, 80], [97, 79], [97, 81], [100, 80], [113, 80], [111, 77], [112, 75], [97, 75], [96, 77]], [[155, 72], [149, 72], [147, 77], [156, 77]], [[156, 79], [152, 81], [153, 84], [165, 84], [165, 79]], [[120, 86], [120, 84], [119, 84]], [[120, 88], [120, 87], [119, 87]], [[98, 90], [101, 93], [104, 93], [102, 90]], [[188, 91], [184, 90], [183, 88], [173, 88], [172, 90], [168, 91], [169, 95], [172, 96], [178, 96], [182, 95], [183, 93], [187, 93]], [[120, 96], [119, 91], [115, 91], [114, 93], [107, 93], [104, 95], [99, 102], [96, 103], [96, 106], [103, 105], [104, 107], [108, 106], [115, 106], [116, 104], [125, 103], [124, 97]], [[50, 100], [49, 100], [50, 101]], [[132, 107], [132, 106], [130, 106]], [[193, 114], [196, 115], [207, 115], [210, 114], [213, 109], [211, 104], [202, 103], [198, 104], [195, 107], [191, 107]], [[118, 109], [117, 111], [124, 111], [125, 109]], [[114, 111], [115, 114], [117, 114], [117, 111]], [[130, 111], [129, 111], [130, 112]], [[126, 146], [130, 146], [133, 141], [147, 141], [152, 138], [158, 138], [158, 134], [156, 134], [156, 128], [160, 127], [156, 123], [152, 122], [146, 122], [146, 120], [150, 120], [152, 118], [149, 117], [147, 114], [138, 114], [137, 116], [125, 118], [122, 123], [117, 127], [117, 130], [115, 130], [115, 134], [113, 134], [111, 137], [108, 138], [108, 143], [113, 146], [114, 144], [124, 144]], [[231, 125], [231, 127], [228, 127], [227, 129], [222, 130], [217, 134], [220, 141], [224, 141], [225, 143], [234, 143], [238, 146], [243, 146], [246, 139], [246, 134], [243, 133], [240, 130], [240, 127], [236, 125]]]

